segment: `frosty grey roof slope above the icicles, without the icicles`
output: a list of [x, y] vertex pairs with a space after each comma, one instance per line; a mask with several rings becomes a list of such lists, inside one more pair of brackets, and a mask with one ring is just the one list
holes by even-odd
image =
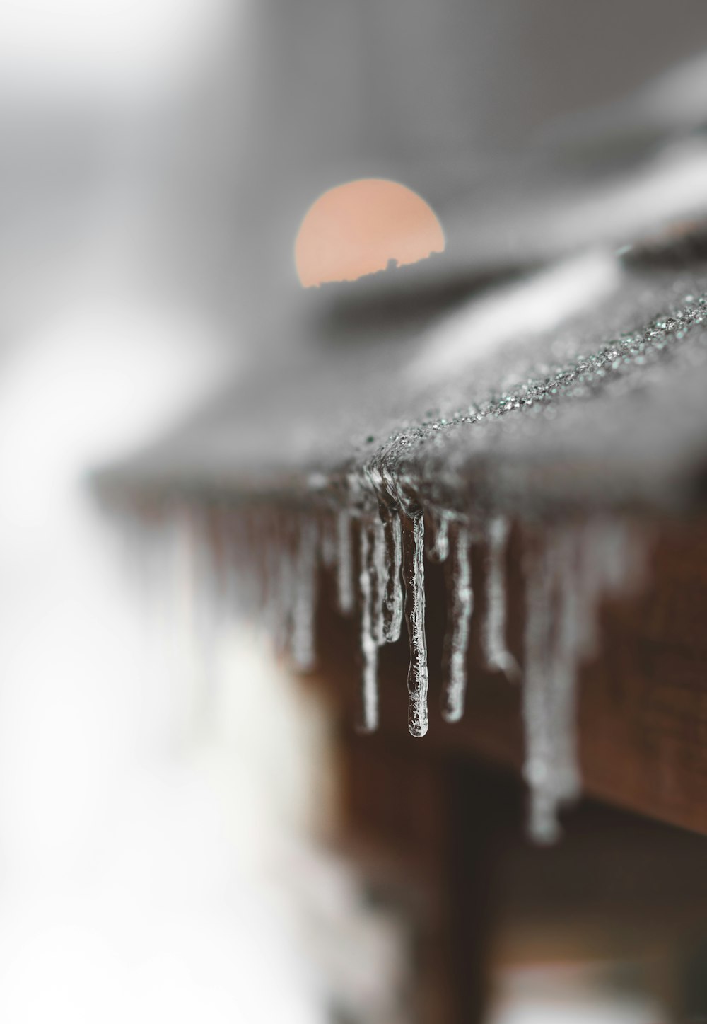
[[[590, 291], [588, 307], [550, 329], [532, 315], [524, 327], [518, 296], [535, 282], [551, 301], [554, 273], [473, 299], [403, 339], [382, 332], [374, 346], [297, 349], [103, 481], [344, 506], [383, 488], [401, 507], [465, 514], [472, 504], [513, 512], [683, 500], [707, 428], [707, 269], [642, 273], [617, 262], [611, 289]], [[442, 375], [422, 373], [436, 337], [444, 347], [447, 321], [468, 354]]]

